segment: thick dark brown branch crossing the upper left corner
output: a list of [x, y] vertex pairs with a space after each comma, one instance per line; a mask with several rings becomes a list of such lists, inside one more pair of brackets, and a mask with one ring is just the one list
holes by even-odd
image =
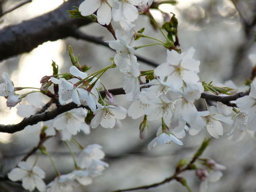
[[72, 29], [90, 24], [86, 19], [69, 18], [67, 10], [81, 2], [70, 0], [49, 13], [0, 30], [0, 61], [29, 52], [43, 42], [71, 36]]

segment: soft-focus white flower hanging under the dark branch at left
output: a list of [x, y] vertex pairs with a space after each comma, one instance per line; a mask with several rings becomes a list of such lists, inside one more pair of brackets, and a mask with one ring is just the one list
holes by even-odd
[[85, 116], [86, 110], [82, 108], [73, 109], [58, 115], [53, 120], [52, 126], [61, 132], [62, 140], [70, 140], [72, 135], [76, 135], [81, 130], [86, 134], [90, 133], [90, 126], [84, 122]]

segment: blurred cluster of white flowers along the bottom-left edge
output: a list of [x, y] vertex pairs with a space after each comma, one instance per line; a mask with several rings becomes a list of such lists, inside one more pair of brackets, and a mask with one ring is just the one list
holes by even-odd
[[82, 150], [78, 157], [78, 166], [73, 172], [66, 175], [57, 175], [57, 177], [48, 185], [42, 180], [45, 178], [45, 172], [38, 166], [30, 166], [22, 161], [8, 173], [11, 181], [22, 180], [25, 189], [33, 191], [37, 188], [40, 192], [62, 192], [73, 191], [73, 187], [89, 185], [93, 178], [100, 176], [103, 170], [108, 167], [108, 163], [101, 161], [105, 154], [101, 151], [98, 144], [88, 145]]

